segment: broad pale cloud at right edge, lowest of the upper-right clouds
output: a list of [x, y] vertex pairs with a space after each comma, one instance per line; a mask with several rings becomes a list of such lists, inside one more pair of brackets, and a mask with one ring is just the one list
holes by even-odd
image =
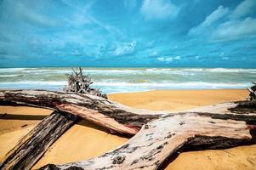
[[246, 37], [256, 37], [256, 19], [247, 17], [244, 20], [230, 20], [213, 32], [215, 40], [237, 40]]

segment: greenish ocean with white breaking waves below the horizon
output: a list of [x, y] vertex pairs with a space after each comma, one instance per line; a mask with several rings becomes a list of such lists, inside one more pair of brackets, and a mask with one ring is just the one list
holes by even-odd
[[[61, 90], [71, 68], [0, 68], [1, 89]], [[154, 89], [247, 88], [256, 69], [224, 68], [84, 68], [103, 93]]]

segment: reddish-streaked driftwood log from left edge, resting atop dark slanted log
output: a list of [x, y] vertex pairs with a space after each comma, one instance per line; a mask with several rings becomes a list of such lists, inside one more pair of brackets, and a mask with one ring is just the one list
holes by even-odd
[[65, 94], [45, 90], [2, 90], [0, 101], [39, 105], [69, 112], [113, 132], [134, 135], [146, 122], [163, 112], [135, 110], [90, 94]]

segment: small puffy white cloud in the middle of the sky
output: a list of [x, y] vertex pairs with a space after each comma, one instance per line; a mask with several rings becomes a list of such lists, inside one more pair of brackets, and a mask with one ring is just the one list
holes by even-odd
[[136, 47], [136, 42], [130, 42], [128, 44], [125, 44], [125, 45], [122, 45], [122, 46], [118, 46], [115, 49], [114, 54], [116, 56], [134, 54], [135, 47]]

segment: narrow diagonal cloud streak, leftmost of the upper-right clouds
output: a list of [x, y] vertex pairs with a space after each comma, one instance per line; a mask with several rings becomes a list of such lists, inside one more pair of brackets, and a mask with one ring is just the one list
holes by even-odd
[[201, 34], [202, 31], [207, 30], [215, 22], [225, 17], [225, 15], [228, 13], [229, 13], [229, 8], [224, 8], [223, 6], [220, 5], [216, 10], [213, 11], [212, 14], [209, 14], [199, 26], [193, 27], [189, 31], [189, 35]]

